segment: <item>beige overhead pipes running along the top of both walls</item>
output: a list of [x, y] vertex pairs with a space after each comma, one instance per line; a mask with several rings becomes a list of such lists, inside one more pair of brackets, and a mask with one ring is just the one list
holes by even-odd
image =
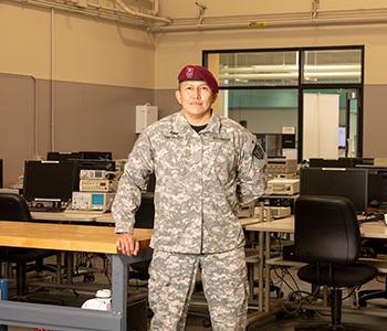
[[[136, 12], [130, 10], [123, 0], [112, 0], [117, 3], [119, 2], [119, 8], [107, 8], [100, 3], [87, 3], [86, 7], [75, 7], [74, 4], [53, 2], [52, 0], [11, 1], [50, 9], [55, 8], [66, 12], [105, 19], [132, 25], [137, 29], [147, 29], [148, 32], [155, 34], [189, 31], [263, 30], [387, 23], [387, 8], [318, 11], [318, 14], [315, 11], [315, 14], [312, 17], [311, 12], [269, 13], [260, 17], [251, 14], [211, 17], [202, 18], [201, 24], [198, 24], [197, 18], [179, 18], [172, 20], [160, 18], [155, 14]], [[157, 13], [159, 10], [159, 1], [153, 0], [153, 13]], [[160, 23], [166, 25], [159, 25]]]

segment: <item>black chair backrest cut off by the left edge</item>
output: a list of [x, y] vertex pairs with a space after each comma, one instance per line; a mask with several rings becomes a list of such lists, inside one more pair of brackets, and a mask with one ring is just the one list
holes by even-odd
[[14, 193], [0, 193], [0, 221], [31, 221], [25, 200]]

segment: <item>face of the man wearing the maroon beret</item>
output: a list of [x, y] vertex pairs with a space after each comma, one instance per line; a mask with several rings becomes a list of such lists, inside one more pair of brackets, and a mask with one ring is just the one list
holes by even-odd
[[178, 103], [190, 118], [200, 118], [210, 114], [216, 97], [217, 95], [212, 93], [207, 83], [201, 81], [181, 82], [176, 92]]

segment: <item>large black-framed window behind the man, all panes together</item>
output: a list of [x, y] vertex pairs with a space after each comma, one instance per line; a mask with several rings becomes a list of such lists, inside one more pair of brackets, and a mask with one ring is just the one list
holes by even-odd
[[[363, 46], [203, 51], [205, 65], [218, 75], [221, 89], [216, 109], [255, 134], [270, 157], [295, 156], [299, 161], [304, 159], [303, 141], [321, 140], [321, 149], [307, 148], [306, 154], [315, 157], [324, 157], [328, 143], [304, 128], [311, 124], [305, 94], [338, 98], [337, 111], [330, 113], [337, 115], [330, 156], [362, 156], [363, 58]], [[295, 132], [293, 151], [282, 146], [289, 130]]]

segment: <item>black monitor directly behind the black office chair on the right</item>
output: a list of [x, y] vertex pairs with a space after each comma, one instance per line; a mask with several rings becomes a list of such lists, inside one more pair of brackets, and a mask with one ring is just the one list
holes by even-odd
[[357, 168], [303, 168], [300, 194], [345, 196], [362, 213], [368, 204], [368, 172]]

